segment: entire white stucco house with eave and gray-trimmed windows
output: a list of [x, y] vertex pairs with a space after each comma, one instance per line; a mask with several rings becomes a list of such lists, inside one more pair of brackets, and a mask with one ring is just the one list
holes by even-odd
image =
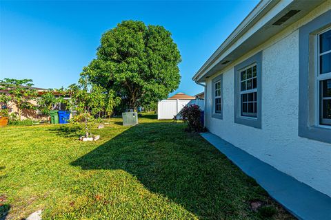
[[261, 1], [193, 80], [210, 132], [331, 197], [331, 1]]

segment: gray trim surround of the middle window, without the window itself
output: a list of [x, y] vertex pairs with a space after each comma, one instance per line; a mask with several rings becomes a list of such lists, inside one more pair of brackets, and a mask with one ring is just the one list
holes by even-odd
[[[240, 70], [257, 64], [257, 118], [241, 116]], [[262, 118], [262, 52], [251, 56], [234, 67], [234, 123], [261, 129]]]

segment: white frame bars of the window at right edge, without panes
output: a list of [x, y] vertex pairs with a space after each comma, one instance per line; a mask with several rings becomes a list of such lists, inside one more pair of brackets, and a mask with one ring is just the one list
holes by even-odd
[[331, 72], [329, 73], [325, 73], [325, 74], [321, 74], [321, 68], [320, 68], [320, 57], [323, 56], [324, 54], [330, 54], [331, 50], [328, 50], [326, 52], [320, 53], [320, 36], [321, 34], [330, 31], [331, 28], [327, 28], [325, 30], [323, 30], [322, 32], [319, 32], [319, 34], [316, 34], [316, 41], [317, 45], [315, 45], [315, 51], [316, 51], [316, 56], [315, 56], [315, 63], [317, 63], [316, 67], [315, 67], [315, 72], [317, 73], [315, 76], [315, 100], [316, 100], [316, 118], [315, 118], [315, 122], [316, 122], [316, 126], [321, 126], [321, 127], [325, 127], [325, 128], [330, 128], [331, 129], [331, 120], [328, 119], [323, 119], [323, 106], [322, 106], [322, 99], [331, 99], [331, 98], [323, 98], [322, 95], [322, 88], [321, 88], [321, 81], [322, 80], [331, 80]]

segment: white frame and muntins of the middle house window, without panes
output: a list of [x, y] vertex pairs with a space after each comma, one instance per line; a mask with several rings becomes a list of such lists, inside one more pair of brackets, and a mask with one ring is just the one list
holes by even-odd
[[[239, 70], [239, 74], [240, 74], [240, 76], [239, 76], [239, 88], [240, 88], [240, 92], [239, 92], [239, 99], [240, 99], [240, 112], [241, 112], [241, 117], [247, 117], [247, 118], [257, 118], [257, 112], [256, 113], [248, 113], [248, 112], [246, 112], [245, 114], [243, 114], [243, 99], [241, 98], [241, 95], [244, 95], [244, 94], [254, 94], [254, 93], [258, 93], [258, 89], [257, 89], [257, 87], [256, 88], [254, 88], [253, 89], [253, 79], [254, 78], [257, 78], [257, 74], [256, 74], [256, 76], [254, 76], [253, 77], [253, 75], [252, 75], [252, 78], [247, 78], [246, 77], [246, 79], [245, 80], [242, 80], [242, 78], [241, 78], [241, 72], [243, 72], [243, 71], [247, 71], [247, 69], [252, 69], [252, 74], [253, 74], [253, 67], [256, 67], [256, 69], [257, 69], [257, 63], [253, 63], [252, 65], [249, 65], [248, 67], [245, 67], [245, 68], [243, 68], [243, 69], [240, 69]], [[246, 72], [246, 74], [247, 74], [247, 72]], [[248, 89], [248, 90], [244, 90], [244, 91], [242, 91], [241, 90], [241, 83], [243, 83], [243, 82], [247, 82], [248, 80], [252, 80], [252, 89]], [[247, 88], [247, 83], [246, 83], [246, 88]], [[254, 107], [254, 102], [258, 102], [257, 101], [257, 97], [255, 97], [255, 101], [252, 101], [252, 103], [253, 103], [253, 109], [255, 108]], [[247, 104], [248, 103], [250, 103], [250, 102], [248, 102], [247, 101]], [[248, 109], [248, 105], [247, 105], [247, 109]], [[257, 107], [257, 111], [258, 111], [258, 107]]]

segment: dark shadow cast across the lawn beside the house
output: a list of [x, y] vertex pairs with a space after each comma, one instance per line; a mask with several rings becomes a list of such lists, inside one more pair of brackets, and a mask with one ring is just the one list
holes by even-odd
[[248, 201], [268, 199], [264, 190], [202, 137], [183, 129], [176, 123], [138, 124], [72, 165], [125, 170], [203, 219], [241, 219], [243, 212], [256, 219]]

